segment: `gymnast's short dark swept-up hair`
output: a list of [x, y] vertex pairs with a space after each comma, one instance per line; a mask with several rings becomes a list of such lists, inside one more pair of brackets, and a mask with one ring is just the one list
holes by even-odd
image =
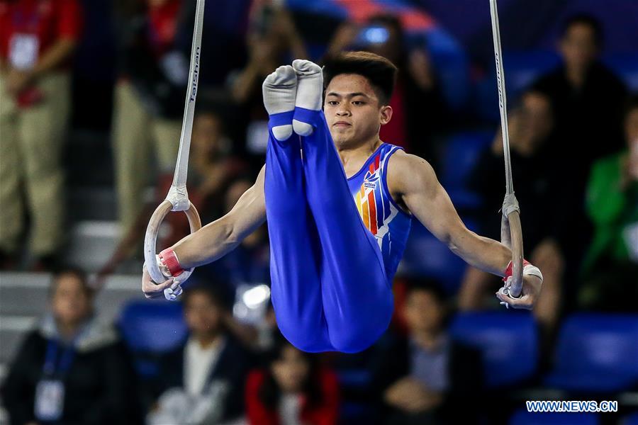
[[387, 105], [394, 91], [396, 66], [371, 52], [342, 52], [323, 61], [324, 89], [340, 74], [357, 74], [370, 81], [379, 103]]

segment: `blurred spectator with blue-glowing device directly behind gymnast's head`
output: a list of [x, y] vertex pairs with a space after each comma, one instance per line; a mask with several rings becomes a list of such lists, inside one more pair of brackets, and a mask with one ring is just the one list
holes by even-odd
[[328, 55], [347, 48], [368, 50], [398, 67], [390, 99], [392, 120], [381, 128], [381, 140], [405, 147], [435, 165], [433, 135], [444, 126], [447, 106], [425, 43], [408, 47], [401, 21], [393, 15], [378, 15], [363, 26], [343, 24], [330, 42]]

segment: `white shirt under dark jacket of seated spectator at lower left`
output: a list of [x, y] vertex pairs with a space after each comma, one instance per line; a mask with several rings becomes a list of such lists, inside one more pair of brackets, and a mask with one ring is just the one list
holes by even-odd
[[215, 367], [224, 346], [225, 339], [221, 336], [207, 348], [201, 348], [198, 341], [189, 338], [184, 348], [184, 391], [187, 394], [200, 395], [205, 390], [208, 375]]

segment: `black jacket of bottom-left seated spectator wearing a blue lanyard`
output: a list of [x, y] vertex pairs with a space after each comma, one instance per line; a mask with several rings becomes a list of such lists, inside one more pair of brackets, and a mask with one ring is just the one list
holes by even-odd
[[[50, 319], [30, 332], [9, 368], [2, 398], [11, 424], [35, 421], [35, 387], [43, 378], [45, 353], [55, 332]], [[112, 327], [92, 323], [66, 374], [64, 425], [139, 424], [135, 373], [127, 349]]]

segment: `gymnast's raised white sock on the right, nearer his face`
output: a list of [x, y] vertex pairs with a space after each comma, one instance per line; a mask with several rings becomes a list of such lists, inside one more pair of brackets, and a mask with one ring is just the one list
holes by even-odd
[[[297, 59], [293, 61], [293, 68], [297, 73], [297, 96], [295, 106], [321, 111], [323, 101], [323, 72], [318, 64], [309, 60]], [[300, 136], [313, 134], [313, 126], [293, 120], [293, 129]]]

